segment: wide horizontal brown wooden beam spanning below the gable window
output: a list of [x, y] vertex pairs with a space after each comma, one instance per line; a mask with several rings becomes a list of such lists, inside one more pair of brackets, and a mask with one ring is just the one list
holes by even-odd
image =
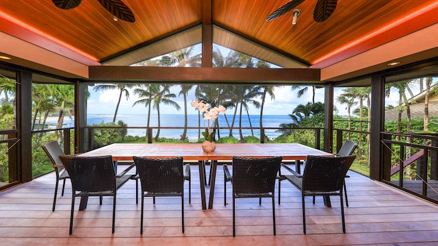
[[90, 66], [89, 79], [106, 82], [181, 82], [207, 84], [321, 84], [319, 69], [241, 69], [222, 67]]

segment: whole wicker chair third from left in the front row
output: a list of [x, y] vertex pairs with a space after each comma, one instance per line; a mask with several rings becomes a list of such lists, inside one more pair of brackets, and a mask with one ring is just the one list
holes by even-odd
[[235, 236], [235, 199], [250, 197], [272, 198], [272, 221], [275, 230], [274, 188], [283, 157], [244, 158], [233, 157], [233, 175], [224, 164], [224, 205], [227, 205], [227, 182], [233, 185], [233, 236]]

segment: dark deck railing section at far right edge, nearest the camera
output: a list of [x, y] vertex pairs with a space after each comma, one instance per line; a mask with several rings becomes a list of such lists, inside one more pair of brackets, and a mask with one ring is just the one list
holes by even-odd
[[382, 132], [383, 181], [438, 203], [438, 135]]

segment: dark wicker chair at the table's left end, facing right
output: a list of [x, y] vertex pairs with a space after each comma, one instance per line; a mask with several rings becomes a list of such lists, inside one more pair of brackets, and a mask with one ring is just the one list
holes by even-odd
[[59, 143], [57, 143], [57, 141], [51, 141], [45, 145], [42, 145], [42, 149], [44, 149], [44, 151], [47, 153], [47, 156], [49, 156], [56, 174], [55, 196], [53, 197], [53, 207], [52, 207], [52, 212], [54, 212], [56, 206], [58, 184], [60, 180], [64, 181], [62, 184], [62, 192], [61, 192], [61, 196], [64, 196], [64, 188], [66, 187], [66, 180], [69, 179], [70, 176], [68, 175], [66, 169], [64, 169], [64, 165], [60, 160], [59, 156], [63, 156], [64, 151], [61, 149], [61, 146]]

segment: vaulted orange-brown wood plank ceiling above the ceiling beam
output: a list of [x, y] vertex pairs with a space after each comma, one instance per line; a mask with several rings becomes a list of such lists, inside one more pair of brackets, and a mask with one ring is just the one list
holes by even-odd
[[[437, 0], [339, 0], [322, 23], [313, 21], [316, 0], [305, 0], [297, 7], [301, 13], [296, 25], [292, 11], [265, 21], [287, 0], [122, 1], [132, 10], [135, 23], [114, 21], [97, 0], [83, 0], [72, 10], [61, 10], [51, 0], [0, 1], [0, 31], [57, 53], [62, 53], [59, 47], [67, 47], [72, 52], [62, 56], [100, 64], [204, 23], [305, 66], [323, 68], [438, 23]], [[198, 33], [198, 39], [190, 42], [201, 42], [202, 32]], [[172, 47], [163, 45], [163, 50], [183, 48], [188, 43], [184, 38], [176, 39]], [[227, 36], [214, 40], [257, 57], [237, 41]], [[148, 56], [162, 54], [157, 49]]]

